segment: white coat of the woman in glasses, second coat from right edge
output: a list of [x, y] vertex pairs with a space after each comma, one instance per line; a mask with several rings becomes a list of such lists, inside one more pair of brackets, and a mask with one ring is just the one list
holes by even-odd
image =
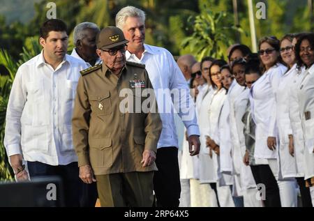
[[[278, 85], [276, 93], [276, 121], [278, 125], [280, 155], [279, 164], [283, 178], [292, 178], [297, 176], [297, 162], [289, 153], [289, 135], [293, 135], [292, 123], [289, 113], [290, 87], [297, 73], [297, 65], [294, 65], [283, 77]], [[297, 137], [296, 137], [297, 138]]]

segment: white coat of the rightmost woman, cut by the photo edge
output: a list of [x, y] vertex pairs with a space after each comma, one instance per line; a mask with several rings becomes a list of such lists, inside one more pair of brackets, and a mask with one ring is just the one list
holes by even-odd
[[[314, 176], [314, 65], [306, 70], [299, 85], [298, 98], [302, 128], [304, 130], [304, 178]], [[310, 119], [305, 118], [310, 112]]]

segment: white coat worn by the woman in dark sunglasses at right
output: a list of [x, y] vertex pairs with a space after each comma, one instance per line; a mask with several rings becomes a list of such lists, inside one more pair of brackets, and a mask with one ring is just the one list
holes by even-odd
[[256, 124], [255, 158], [277, 158], [277, 151], [271, 151], [267, 146], [267, 137], [276, 137], [278, 143], [275, 95], [279, 81], [286, 70], [287, 67], [277, 63], [257, 79], [251, 88], [250, 96], [253, 97], [251, 109]]

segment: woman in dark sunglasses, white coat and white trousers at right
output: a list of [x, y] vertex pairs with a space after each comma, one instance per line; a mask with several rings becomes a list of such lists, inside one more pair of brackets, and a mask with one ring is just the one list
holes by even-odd
[[[251, 89], [251, 103], [255, 129], [255, 160], [267, 160], [278, 183], [281, 206], [294, 206], [295, 183], [284, 181], [278, 166], [278, 128], [276, 125], [276, 92], [281, 77], [287, 71], [280, 61], [280, 42], [276, 37], [265, 37], [259, 43], [263, 75]], [[274, 190], [276, 187], [273, 187]], [[274, 192], [274, 195], [276, 192]], [[278, 199], [277, 199], [278, 201]], [[279, 206], [279, 205], [277, 205]]]

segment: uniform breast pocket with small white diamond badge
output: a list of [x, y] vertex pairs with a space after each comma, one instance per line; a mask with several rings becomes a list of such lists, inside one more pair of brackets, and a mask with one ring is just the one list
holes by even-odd
[[96, 113], [96, 115], [109, 115], [112, 112], [109, 91], [98, 96], [89, 96], [89, 102], [91, 103], [91, 112]]

